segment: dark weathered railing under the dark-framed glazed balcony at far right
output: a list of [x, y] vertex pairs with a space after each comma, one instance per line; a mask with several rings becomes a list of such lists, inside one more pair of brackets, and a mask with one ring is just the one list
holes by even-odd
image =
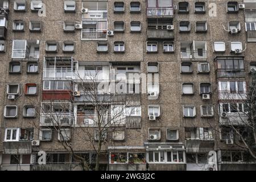
[[244, 78], [244, 69], [217, 69], [217, 78]]

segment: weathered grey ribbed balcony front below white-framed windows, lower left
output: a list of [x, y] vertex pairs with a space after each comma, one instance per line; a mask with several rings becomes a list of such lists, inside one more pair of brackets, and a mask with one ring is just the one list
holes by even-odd
[[31, 141], [3, 142], [3, 154], [31, 154]]

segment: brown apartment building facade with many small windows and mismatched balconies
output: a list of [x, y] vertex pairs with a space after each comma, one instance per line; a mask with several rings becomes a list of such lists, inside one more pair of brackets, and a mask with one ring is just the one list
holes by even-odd
[[100, 169], [256, 169], [228, 123], [246, 120], [256, 1], [3, 0], [0, 7], [1, 170], [82, 170], [62, 144], [71, 133], [72, 150], [94, 165], [97, 112], [84, 91], [111, 81], [114, 90], [95, 93], [100, 103], [115, 98], [104, 102], [104, 119], [126, 108], [115, 130], [107, 127]]

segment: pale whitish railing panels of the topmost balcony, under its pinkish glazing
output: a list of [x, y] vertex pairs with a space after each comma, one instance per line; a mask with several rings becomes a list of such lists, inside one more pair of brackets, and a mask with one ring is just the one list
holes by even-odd
[[147, 16], [154, 17], [154, 16], [167, 16], [173, 17], [174, 16], [174, 9], [172, 7], [165, 7], [165, 8], [148, 8], [147, 9]]

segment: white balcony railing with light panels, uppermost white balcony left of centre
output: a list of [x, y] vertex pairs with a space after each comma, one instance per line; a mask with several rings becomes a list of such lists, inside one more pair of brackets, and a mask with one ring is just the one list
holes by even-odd
[[107, 30], [82, 30], [82, 40], [106, 40]]

